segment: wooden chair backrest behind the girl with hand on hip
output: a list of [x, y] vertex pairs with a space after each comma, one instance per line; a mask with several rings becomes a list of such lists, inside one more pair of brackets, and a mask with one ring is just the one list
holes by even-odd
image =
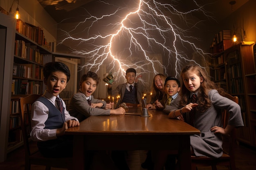
[[[228, 99], [230, 99], [238, 104], [237, 96], [231, 96], [229, 94], [225, 94], [224, 97], [227, 97]], [[222, 126], [223, 126], [223, 128], [225, 128], [227, 126], [228, 121], [229, 121], [229, 112], [227, 110], [223, 110], [222, 111]], [[223, 144], [222, 144], [223, 152], [230, 156], [234, 156], [233, 146], [234, 146], [234, 141], [236, 138], [235, 128], [231, 131], [231, 133], [229, 135], [222, 135], [222, 138], [223, 138]]]

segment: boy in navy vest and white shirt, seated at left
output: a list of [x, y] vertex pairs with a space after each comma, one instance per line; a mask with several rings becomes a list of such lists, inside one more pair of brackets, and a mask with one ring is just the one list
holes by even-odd
[[31, 107], [31, 139], [38, 141], [38, 149], [45, 157], [70, 157], [73, 139], [64, 132], [80, 124], [78, 119], [70, 116], [59, 98], [70, 80], [70, 70], [64, 63], [49, 62], [45, 64], [43, 74], [47, 90]]

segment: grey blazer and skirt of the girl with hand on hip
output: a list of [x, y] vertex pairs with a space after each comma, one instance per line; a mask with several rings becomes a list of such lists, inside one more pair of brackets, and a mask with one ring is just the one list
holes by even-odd
[[[222, 135], [214, 134], [210, 128], [213, 126], [222, 127], [221, 109], [227, 109], [230, 113], [228, 124], [239, 127], [244, 126], [241, 116], [241, 109], [236, 102], [221, 96], [218, 91], [209, 91], [211, 107], [204, 113], [196, 111], [194, 118], [195, 128], [200, 130], [200, 135], [191, 135], [190, 143], [196, 156], [207, 156], [219, 158], [222, 156]], [[189, 119], [189, 113], [186, 113], [186, 119]]]

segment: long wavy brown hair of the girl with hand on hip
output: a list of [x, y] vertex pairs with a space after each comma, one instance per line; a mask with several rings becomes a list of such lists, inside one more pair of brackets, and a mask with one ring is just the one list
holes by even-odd
[[223, 88], [220, 88], [216, 83], [211, 81], [210, 76], [208, 75], [207, 71], [205, 69], [201, 68], [197, 64], [189, 64], [185, 66], [181, 73], [180, 73], [180, 84], [181, 84], [181, 90], [180, 90], [180, 107], [183, 107], [187, 104], [189, 104], [190, 99], [190, 91], [186, 88], [183, 82], [183, 75], [193, 72], [199, 77], [202, 77], [203, 82], [201, 83], [198, 91], [198, 97], [197, 97], [197, 103], [198, 107], [196, 107], [197, 110], [200, 112], [205, 112], [208, 108], [211, 107], [211, 100], [209, 99], [208, 92], [212, 89], [216, 89], [220, 95], [224, 95], [225, 91]]

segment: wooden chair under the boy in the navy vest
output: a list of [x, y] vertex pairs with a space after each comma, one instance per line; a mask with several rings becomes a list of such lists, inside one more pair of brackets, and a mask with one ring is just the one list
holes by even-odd
[[40, 95], [29, 95], [27, 97], [20, 97], [19, 109], [20, 109], [20, 125], [22, 129], [22, 136], [25, 148], [25, 170], [30, 170], [31, 165], [46, 166], [45, 170], [54, 168], [67, 168], [71, 169], [72, 157], [68, 158], [46, 158], [40, 154], [35, 142], [30, 141], [31, 132], [31, 105]]

